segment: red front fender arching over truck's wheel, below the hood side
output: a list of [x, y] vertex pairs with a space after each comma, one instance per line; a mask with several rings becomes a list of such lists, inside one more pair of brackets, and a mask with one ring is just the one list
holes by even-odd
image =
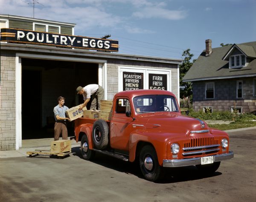
[[[143, 134], [145, 133], [145, 135]], [[136, 158], [137, 146], [140, 142], [144, 144], [151, 144], [157, 153], [158, 163], [160, 166], [163, 166], [163, 159], [166, 157], [166, 139], [163, 139], [159, 135], [152, 134], [148, 135], [150, 131], [137, 131], [130, 135], [130, 144], [129, 144], [129, 161], [134, 162]], [[161, 140], [160, 140], [161, 139]]]

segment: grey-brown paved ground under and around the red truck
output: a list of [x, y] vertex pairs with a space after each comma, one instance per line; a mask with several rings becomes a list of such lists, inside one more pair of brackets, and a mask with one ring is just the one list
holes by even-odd
[[1, 158], [0, 201], [254, 202], [255, 130], [256, 127], [227, 131], [235, 157], [222, 162], [214, 175], [201, 176], [194, 166], [176, 168], [168, 170], [158, 183], [143, 179], [136, 164], [100, 154], [92, 162], [85, 161], [76, 144], [64, 159]]

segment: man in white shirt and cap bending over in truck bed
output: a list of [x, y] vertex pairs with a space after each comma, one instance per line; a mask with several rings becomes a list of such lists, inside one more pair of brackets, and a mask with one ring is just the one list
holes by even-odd
[[86, 107], [87, 103], [90, 101], [90, 98], [92, 96], [92, 102], [90, 106], [90, 110], [100, 110], [99, 104], [100, 101], [104, 97], [104, 89], [99, 86], [98, 84], [89, 84], [85, 87], [77, 87], [76, 92], [79, 95], [83, 95], [84, 97], [84, 103], [80, 105], [79, 110], [82, 110], [83, 107]]

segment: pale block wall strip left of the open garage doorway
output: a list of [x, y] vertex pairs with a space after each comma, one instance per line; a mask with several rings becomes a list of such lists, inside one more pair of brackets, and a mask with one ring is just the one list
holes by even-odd
[[15, 150], [15, 53], [0, 57], [0, 150]]

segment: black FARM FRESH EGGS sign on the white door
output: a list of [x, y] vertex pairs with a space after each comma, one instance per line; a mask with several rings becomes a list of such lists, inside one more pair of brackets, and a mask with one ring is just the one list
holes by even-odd
[[148, 74], [148, 88], [167, 90], [167, 75], [166, 74]]

